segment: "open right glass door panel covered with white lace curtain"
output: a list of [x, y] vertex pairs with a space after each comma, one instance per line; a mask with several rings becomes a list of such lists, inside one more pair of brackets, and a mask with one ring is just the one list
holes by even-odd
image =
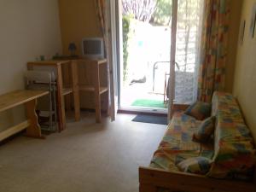
[[196, 101], [205, 0], [172, 0], [169, 118]]

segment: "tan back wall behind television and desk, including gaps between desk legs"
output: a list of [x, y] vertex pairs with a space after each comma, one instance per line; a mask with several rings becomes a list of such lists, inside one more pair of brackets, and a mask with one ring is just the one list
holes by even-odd
[[[95, 0], [59, 0], [61, 20], [61, 40], [63, 54], [69, 55], [68, 44], [74, 42], [77, 45], [77, 55], [82, 55], [81, 42], [83, 38], [101, 37], [102, 33], [96, 15]], [[102, 74], [106, 74], [103, 73]], [[79, 66], [79, 82], [92, 84], [92, 68], [81, 64]], [[106, 84], [106, 76], [102, 75], [102, 82]], [[102, 96], [102, 108], [107, 108], [107, 95]], [[81, 108], [94, 108], [94, 94], [80, 92]]]

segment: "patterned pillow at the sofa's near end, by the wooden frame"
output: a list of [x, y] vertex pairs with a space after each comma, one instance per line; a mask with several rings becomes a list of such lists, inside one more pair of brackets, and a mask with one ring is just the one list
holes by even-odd
[[195, 174], [201, 174], [201, 175], [207, 174], [211, 166], [212, 166], [212, 160], [206, 157], [201, 157], [201, 156], [189, 158], [177, 164], [177, 168], [181, 172], [189, 172], [189, 173], [195, 173]]

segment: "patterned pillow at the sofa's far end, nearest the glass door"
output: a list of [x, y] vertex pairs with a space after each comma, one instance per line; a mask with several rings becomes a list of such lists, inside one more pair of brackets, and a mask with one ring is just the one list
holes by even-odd
[[212, 104], [207, 102], [195, 102], [187, 108], [185, 114], [198, 120], [206, 119], [211, 115]]

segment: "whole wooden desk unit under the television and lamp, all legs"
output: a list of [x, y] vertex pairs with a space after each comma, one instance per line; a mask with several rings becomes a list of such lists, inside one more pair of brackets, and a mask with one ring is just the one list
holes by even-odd
[[[78, 64], [83, 63], [84, 65], [93, 66], [93, 84], [84, 85], [79, 82]], [[70, 65], [71, 68], [71, 79], [72, 87], [67, 89], [63, 88], [62, 71], [61, 66]], [[62, 61], [33, 61], [27, 63], [27, 69], [32, 70], [35, 66], [44, 67], [55, 67], [57, 71], [57, 106], [58, 106], [58, 117], [59, 117], [59, 130], [62, 131], [66, 127], [66, 115], [65, 115], [65, 105], [64, 96], [73, 93], [73, 106], [75, 111], [75, 119], [78, 121], [80, 119], [80, 98], [79, 91], [89, 91], [94, 92], [95, 96], [95, 108], [96, 108], [96, 122], [102, 122], [101, 115], [101, 95], [102, 93], [108, 92], [109, 85], [101, 86], [100, 84], [100, 66], [107, 65], [106, 59], [101, 60], [89, 60], [89, 59], [71, 59]], [[66, 74], [67, 75], [67, 74]], [[107, 80], [108, 82], [108, 80]]]

